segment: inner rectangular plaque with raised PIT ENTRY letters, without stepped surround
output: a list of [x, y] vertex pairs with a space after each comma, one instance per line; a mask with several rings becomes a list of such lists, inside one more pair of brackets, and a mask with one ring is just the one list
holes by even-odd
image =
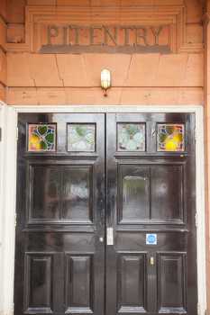
[[169, 53], [170, 25], [77, 25], [42, 27], [40, 53]]

